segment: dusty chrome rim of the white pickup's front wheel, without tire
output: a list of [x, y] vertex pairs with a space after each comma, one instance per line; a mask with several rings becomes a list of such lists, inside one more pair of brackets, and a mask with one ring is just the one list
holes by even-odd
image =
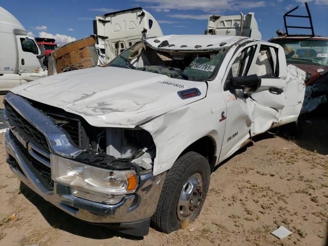
[[183, 185], [177, 206], [179, 220], [184, 221], [196, 213], [202, 200], [202, 180], [199, 173], [193, 174]]

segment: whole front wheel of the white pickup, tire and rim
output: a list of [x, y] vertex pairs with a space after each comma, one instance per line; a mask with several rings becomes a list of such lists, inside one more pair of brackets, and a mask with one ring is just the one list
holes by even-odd
[[153, 226], [171, 233], [179, 230], [183, 221], [194, 220], [204, 204], [210, 175], [209, 162], [202, 155], [188, 152], [179, 157], [166, 176]]

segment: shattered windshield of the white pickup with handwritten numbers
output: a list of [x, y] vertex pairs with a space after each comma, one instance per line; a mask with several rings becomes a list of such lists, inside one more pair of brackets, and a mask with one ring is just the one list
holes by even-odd
[[159, 51], [146, 42], [138, 43], [118, 55], [111, 67], [141, 70], [171, 78], [206, 81], [214, 77], [227, 49], [211, 51]]

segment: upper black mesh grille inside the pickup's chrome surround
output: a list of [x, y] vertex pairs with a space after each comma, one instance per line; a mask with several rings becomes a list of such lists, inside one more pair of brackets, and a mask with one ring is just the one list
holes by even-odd
[[46, 137], [39, 132], [29, 121], [27, 121], [22, 115], [16, 112], [8, 103], [5, 105], [6, 116], [11, 127], [14, 127], [14, 131], [18, 132], [25, 141], [32, 142], [36, 147], [49, 153], [49, 147]]

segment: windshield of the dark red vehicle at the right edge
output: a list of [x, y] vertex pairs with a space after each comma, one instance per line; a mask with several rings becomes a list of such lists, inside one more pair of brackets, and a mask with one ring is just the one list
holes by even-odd
[[328, 41], [326, 40], [275, 40], [282, 46], [287, 63], [328, 66]]

